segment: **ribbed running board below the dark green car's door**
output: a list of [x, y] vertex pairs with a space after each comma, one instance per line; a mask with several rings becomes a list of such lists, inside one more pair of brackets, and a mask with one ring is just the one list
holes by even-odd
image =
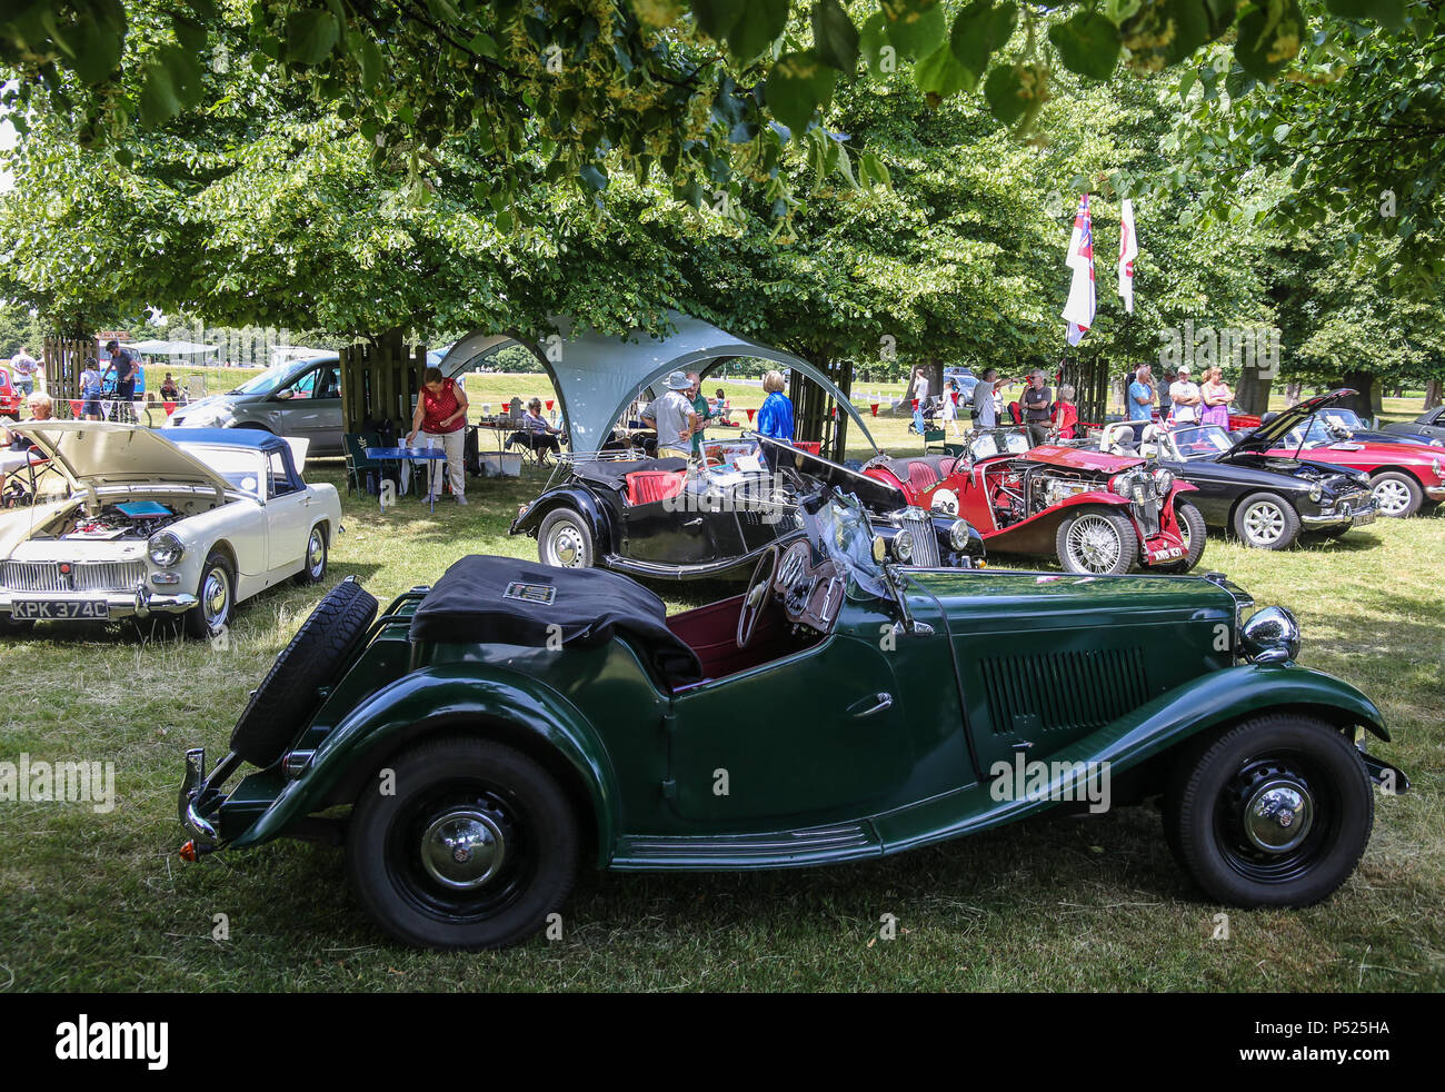
[[620, 872], [805, 868], [883, 856], [871, 823], [715, 837], [624, 837], [610, 868]]

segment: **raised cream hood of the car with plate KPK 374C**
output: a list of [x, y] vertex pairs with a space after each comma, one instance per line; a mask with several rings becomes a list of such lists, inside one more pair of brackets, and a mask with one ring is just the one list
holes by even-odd
[[33, 440], [71, 486], [165, 482], [231, 489], [215, 470], [150, 428], [111, 421], [26, 421], [14, 431]]

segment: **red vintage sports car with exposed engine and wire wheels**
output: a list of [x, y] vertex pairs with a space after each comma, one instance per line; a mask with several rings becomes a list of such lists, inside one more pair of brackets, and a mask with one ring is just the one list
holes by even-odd
[[1071, 573], [1188, 573], [1204, 554], [1204, 518], [1181, 498], [1195, 486], [1143, 458], [1029, 448], [1000, 431], [975, 437], [961, 458], [879, 456], [863, 473], [910, 505], [967, 519], [990, 553], [1055, 554]]

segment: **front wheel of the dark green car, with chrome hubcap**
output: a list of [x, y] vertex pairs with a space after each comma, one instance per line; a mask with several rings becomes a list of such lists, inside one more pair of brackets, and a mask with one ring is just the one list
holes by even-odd
[[1374, 791], [1360, 752], [1332, 725], [1269, 713], [1186, 748], [1165, 823], [1179, 863], [1211, 898], [1305, 907], [1360, 863]]

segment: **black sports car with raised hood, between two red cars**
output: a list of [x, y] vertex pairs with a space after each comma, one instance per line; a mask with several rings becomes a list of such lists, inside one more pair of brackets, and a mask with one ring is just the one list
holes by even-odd
[[1156, 460], [1198, 486], [1189, 500], [1204, 522], [1234, 531], [1257, 550], [1285, 550], [1302, 534], [1338, 537], [1376, 518], [1368, 476], [1264, 454], [1220, 425], [1166, 430], [1150, 421], [1116, 421], [1098, 444], [1114, 454]]

